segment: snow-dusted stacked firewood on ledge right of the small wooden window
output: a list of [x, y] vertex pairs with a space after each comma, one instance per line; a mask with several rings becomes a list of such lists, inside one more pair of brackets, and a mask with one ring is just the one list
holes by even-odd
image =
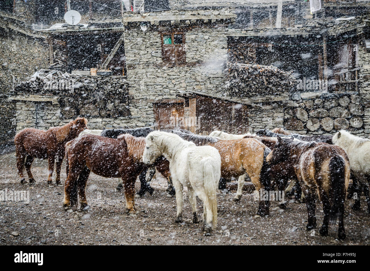
[[226, 64], [226, 84], [232, 96], [278, 94], [296, 87], [292, 71], [258, 64]]

